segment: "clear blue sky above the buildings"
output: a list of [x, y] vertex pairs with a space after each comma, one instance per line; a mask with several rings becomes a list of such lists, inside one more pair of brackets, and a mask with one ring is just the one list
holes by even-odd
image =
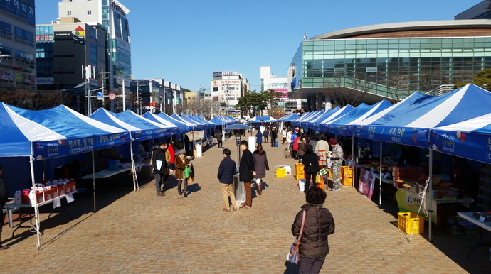
[[[80, 1], [80, 0], [77, 0]], [[36, 23], [58, 18], [60, 0], [37, 0]], [[481, 0], [120, 0], [130, 9], [132, 74], [209, 89], [213, 72], [238, 71], [260, 90], [260, 66], [277, 77], [307, 38], [379, 23], [453, 20]]]

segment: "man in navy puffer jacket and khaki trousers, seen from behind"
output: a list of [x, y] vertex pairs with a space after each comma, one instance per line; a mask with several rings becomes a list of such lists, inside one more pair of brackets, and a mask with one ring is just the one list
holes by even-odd
[[236, 161], [230, 158], [231, 151], [228, 148], [223, 149], [223, 160], [218, 167], [218, 180], [221, 182], [221, 194], [223, 195], [224, 212], [230, 212], [228, 197], [232, 203], [233, 211], [237, 210], [236, 195], [233, 194], [233, 175], [237, 173]]

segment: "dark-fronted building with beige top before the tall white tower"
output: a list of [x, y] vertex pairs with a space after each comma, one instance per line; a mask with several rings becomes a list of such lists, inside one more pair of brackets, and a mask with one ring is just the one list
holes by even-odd
[[[106, 28], [100, 23], [82, 23], [74, 17], [36, 25], [38, 89], [64, 90], [64, 94], [73, 95], [68, 106], [83, 114], [103, 106], [103, 101], [93, 99], [88, 112], [86, 97], [88, 90], [101, 92], [98, 88], [107, 87], [107, 79], [101, 77], [107, 69], [106, 35]], [[89, 65], [93, 66], [93, 75], [88, 84], [75, 89], [85, 82], [84, 68]], [[95, 97], [95, 93], [92, 95]]]

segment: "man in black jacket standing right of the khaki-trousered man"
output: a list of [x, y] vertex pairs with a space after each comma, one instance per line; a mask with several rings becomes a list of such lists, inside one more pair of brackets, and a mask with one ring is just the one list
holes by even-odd
[[248, 146], [248, 141], [241, 141], [241, 150], [243, 154], [238, 171], [240, 172], [239, 178], [244, 182], [245, 188], [245, 202], [241, 204], [241, 209], [248, 209], [253, 205], [253, 192], [250, 189], [250, 181], [252, 181], [255, 176], [254, 157], [253, 153], [248, 149]]

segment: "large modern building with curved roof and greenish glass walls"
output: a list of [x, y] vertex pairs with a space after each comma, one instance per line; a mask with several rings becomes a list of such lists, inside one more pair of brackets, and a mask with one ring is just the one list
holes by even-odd
[[471, 82], [491, 67], [491, 21], [422, 21], [348, 28], [302, 40], [288, 68], [290, 98], [307, 111], [345, 94], [373, 104], [443, 84]]

